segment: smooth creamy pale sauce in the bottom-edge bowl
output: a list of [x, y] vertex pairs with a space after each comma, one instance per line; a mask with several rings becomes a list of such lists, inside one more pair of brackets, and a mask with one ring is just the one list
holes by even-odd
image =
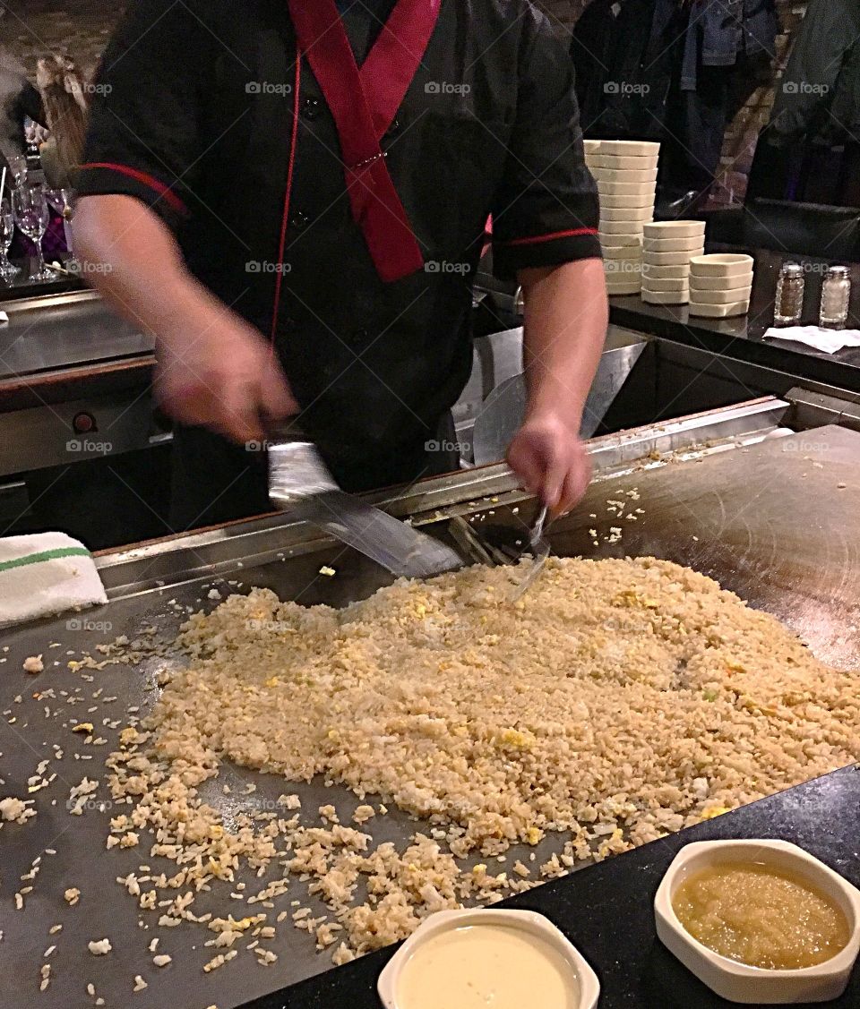
[[576, 1009], [579, 983], [562, 954], [514, 925], [469, 925], [416, 946], [398, 1009]]

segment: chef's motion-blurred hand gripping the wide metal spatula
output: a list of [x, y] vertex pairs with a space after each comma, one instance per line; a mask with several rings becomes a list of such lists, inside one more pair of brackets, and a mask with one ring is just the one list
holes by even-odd
[[183, 424], [245, 444], [263, 441], [272, 422], [299, 412], [268, 343], [224, 306], [196, 317], [181, 338], [164, 334], [156, 354], [156, 399]]

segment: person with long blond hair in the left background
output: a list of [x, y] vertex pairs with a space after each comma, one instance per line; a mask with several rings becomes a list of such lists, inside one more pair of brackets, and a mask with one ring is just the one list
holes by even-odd
[[84, 158], [88, 103], [86, 83], [66, 57], [39, 60], [36, 85], [44, 106], [48, 137], [39, 145], [45, 181], [51, 189], [71, 189]]

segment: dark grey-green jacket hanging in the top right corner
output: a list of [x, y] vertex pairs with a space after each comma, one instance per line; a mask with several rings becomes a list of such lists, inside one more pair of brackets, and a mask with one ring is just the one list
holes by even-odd
[[811, 0], [782, 80], [768, 138], [836, 144], [860, 131], [860, 4]]

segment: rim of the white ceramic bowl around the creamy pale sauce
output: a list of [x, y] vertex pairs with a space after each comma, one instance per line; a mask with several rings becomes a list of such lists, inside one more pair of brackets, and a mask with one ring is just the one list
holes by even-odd
[[422, 922], [392, 957], [380, 975], [377, 990], [385, 1009], [409, 1009], [409, 1006], [404, 1006], [398, 1001], [398, 983], [401, 972], [416, 949], [440, 932], [453, 928], [464, 928], [468, 925], [507, 925], [512, 928], [521, 928], [525, 932], [539, 936], [561, 954], [566, 961], [570, 968], [571, 984], [578, 982], [579, 1000], [576, 1003], [576, 1009], [595, 1009], [597, 1006], [601, 993], [598, 976], [579, 950], [548, 918], [535, 911], [481, 908], [473, 911], [437, 911]]

